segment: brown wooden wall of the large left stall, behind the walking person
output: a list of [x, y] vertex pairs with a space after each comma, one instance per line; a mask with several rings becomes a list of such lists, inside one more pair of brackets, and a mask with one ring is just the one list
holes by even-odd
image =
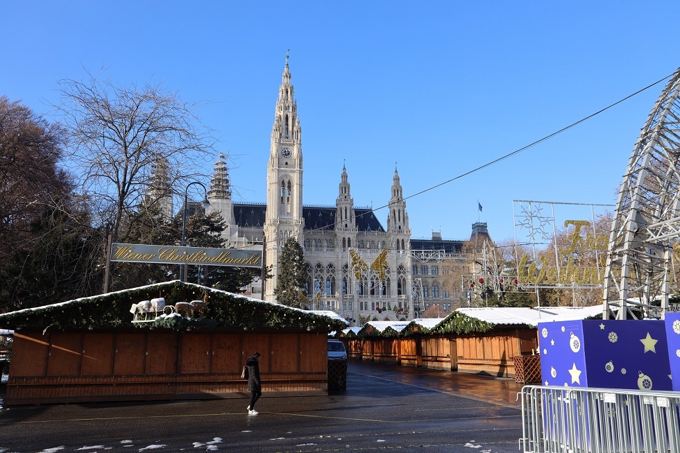
[[326, 349], [314, 332], [15, 332], [6, 404], [241, 397], [255, 351], [266, 393], [326, 394]]

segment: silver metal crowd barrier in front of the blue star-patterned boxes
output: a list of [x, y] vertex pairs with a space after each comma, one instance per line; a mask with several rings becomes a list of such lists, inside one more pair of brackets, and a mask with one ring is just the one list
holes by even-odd
[[679, 453], [680, 392], [524, 386], [524, 453]]

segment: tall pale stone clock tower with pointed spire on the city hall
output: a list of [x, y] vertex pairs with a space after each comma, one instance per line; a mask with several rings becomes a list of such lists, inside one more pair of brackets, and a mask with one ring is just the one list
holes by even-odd
[[303, 219], [303, 150], [302, 130], [298, 120], [291, 73], [283, 70], [281, 86], [271, 130], [271, 149], [267, 164], [267, 205], [264, 222], [265, 265], [272, 266], [271, 280], [266, 281], [265, 300], [275, 300], [278, 282], [278, 259], [289, 237], [302, 241]]

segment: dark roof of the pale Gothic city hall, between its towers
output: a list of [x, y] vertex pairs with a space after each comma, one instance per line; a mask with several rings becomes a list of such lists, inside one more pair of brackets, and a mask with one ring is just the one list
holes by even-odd
[[[326, 207], [303, 207], [303, 217], [305, 218], [305, 230], [324, 228], [326, 230], [335, 229], [334, 206]], [[234, 219], [241, 227], [260, 227], [264, 228], [264, 214], [266, 205], [256, 205], [248, 203], [234, 203]], [[380, 231], [384, 228], [375, 214], [367, 207], [355, 208], [357, 214], [357, 227], [359, 231]]]

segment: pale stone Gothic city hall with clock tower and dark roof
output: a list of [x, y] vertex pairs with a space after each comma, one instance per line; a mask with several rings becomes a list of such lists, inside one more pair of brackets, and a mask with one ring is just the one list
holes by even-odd
[[[355, 206], [344, 165], [334, 206], [305, 206], [303, 187], [302, 128], [286, 57], [271, 130], [266, 203], [232, 202], [223, 156], [207, 192], [207, 214], [219, 212], [226, 221], [226, 246], [263, 250], [264, 265], [271, 266], [273, 277], [264, 285], [253, 282], [246, 294], [276, 302], [279, 257], [293, 237], [309, 263], [309, 309], [333, 310], [350, 325], [361, 325], [367, 320], [411, 320], [432, 305], [443, 311], [457, 307], [460, 284], [446, 288], [442, 262], [460, 257], [464, 241], [441, 239], [438, 232], [432, 239], [411, 239], [396, 169], [389, 192], [385, 188], [389, 212], [384, 224], [371, 208]], [[475, 234], [488, 237], [486, 223], [475, 223]]]

